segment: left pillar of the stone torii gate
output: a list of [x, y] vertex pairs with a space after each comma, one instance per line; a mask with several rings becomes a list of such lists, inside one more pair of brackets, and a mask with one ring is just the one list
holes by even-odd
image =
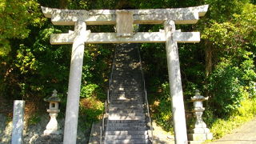
[[86, 22], [77, 21], [74, 25], [74, 43], [70, 62], [70, 79], [66, 102], [66, 118], [64, 127], [64, 144], [75, 144], [78, 129], [78, 110], [82, 79], [82, 61], [85, 39], [90, 34], [86, 31]]

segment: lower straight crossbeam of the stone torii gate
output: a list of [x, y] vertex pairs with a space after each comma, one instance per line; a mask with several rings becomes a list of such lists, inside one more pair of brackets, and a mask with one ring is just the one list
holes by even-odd
[[[115, 33], [91, 33], [84, 39], [86, 43], [143, 43], [143, 42], [166, 42], [165, 32], [138, 32], [132, 38], [117, 38]], [[175, 42], [200, 42], [199, 32], [175, 32]], [[51, 34], [52, 45], [72, 44], [74, 33]]]

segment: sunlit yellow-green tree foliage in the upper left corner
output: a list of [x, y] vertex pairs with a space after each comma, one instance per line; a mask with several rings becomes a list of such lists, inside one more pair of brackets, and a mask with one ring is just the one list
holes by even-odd
[[35, 0], [0, 1], [0, 56], [10, 52], [11, 38], [27, 38], [28, 26], [41, 26], [45, 18]]

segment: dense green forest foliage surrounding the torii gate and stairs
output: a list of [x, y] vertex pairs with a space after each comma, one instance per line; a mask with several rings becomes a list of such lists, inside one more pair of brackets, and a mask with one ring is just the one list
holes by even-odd
[[[186, 101], [195, 89], [209, 96], [206, 120], [229, 118], [242, 102], [255, 99], [256, 7], [250, 0], [0, 0], [0, 100], [22, 98], [42, 102], [56, 89], [66, 103], [69, 77], [69, 45], [50, 45], [50, 34], [73, 26], [53, 26], [40, 6], [69, 9], [146, 9], [209, 4], [206, 16], [195, 25], [177, 26], [182, 31], [200, 31], [198, 44], [179, 44], [182, 86]], [[114, 31], [114, 26], [88, 26], [96, 32]], [[158, 31], [162, 26], [142, 25], [139, 31]], [[82, 73], [81, 110], [94, 121], [102, 112], [114, 45], [86, 45]], [[171, 109], [164, 44], [142, 44], [143, 69], [154, 119], [171, 130]], [[42, 105], [42, 104], [41, 104]], [[65, 106], [62, 106], [64, 109]], [[186, 102], [186, 110], [190, 110]], [[62, 110], [62, 112], [65, 110]]]

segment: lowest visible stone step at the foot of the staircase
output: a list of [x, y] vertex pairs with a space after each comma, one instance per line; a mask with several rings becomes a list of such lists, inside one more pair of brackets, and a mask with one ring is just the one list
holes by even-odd
[[150, 143], [148, 139], [121, 139], [121, 140], [107, 140], [105, 143], [110, 144], [147, 144]]

